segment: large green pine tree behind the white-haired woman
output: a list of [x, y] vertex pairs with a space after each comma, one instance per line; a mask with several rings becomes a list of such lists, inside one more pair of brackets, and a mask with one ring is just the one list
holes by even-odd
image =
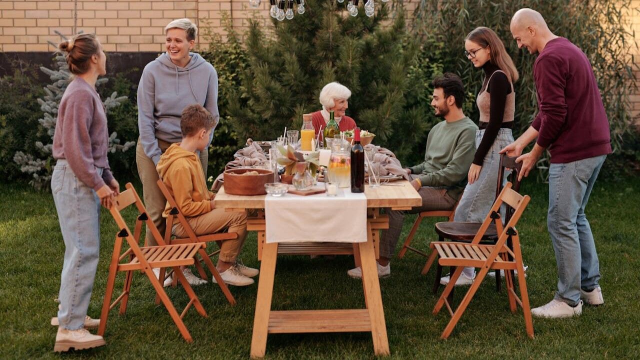
[[273, 31], [250, 22], [248, 67], [229, 104], [237, 133], [273, 140], [285, 126], [298, 129], [303, 113], [321, 109], [323, 86], [338, 81], [352, 92], [347, 114], [376, 134], [374, 143], [399, 158], [422, 156], [430, 100], [401, 4], [392, 14], [379, 1], [374, 17], [351, 17], [346, 1], [306, 3], [305, 14], [273, 20]]

